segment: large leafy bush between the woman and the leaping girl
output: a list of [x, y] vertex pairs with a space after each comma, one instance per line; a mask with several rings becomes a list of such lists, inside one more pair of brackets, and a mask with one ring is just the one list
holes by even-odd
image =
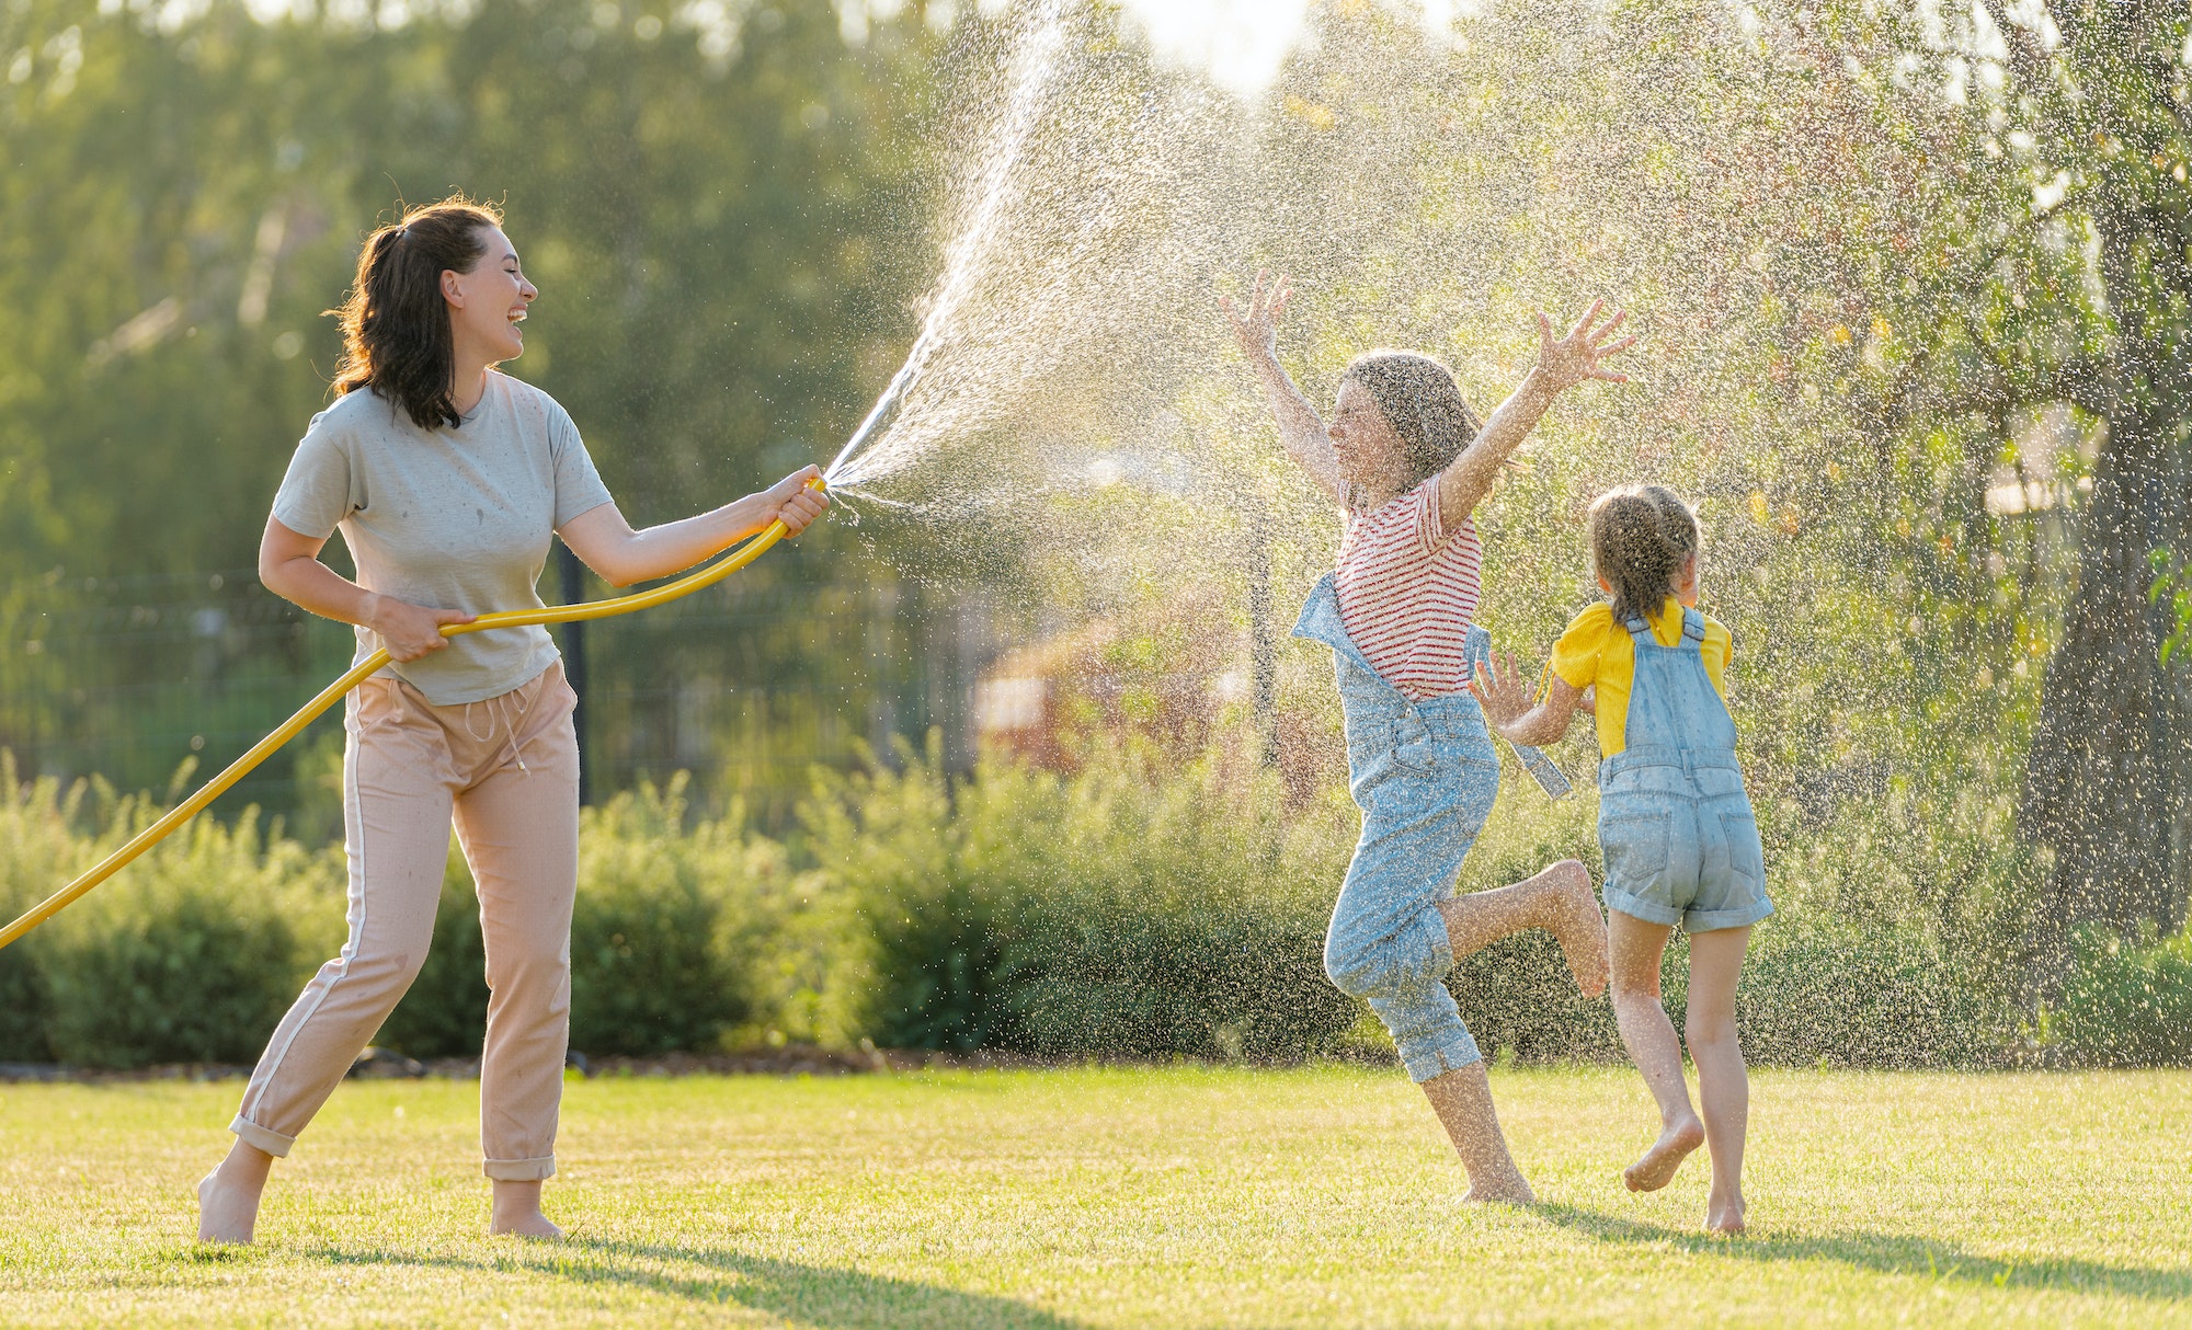
[[1274, 780], [1116, 756], [947, 789], [934, 745], [905, 758], [807, 811], [866, 931], [877, 1043], [1274, 1060], [1355, 1023], [1322, 968], [1346, 837], [1289, 830]]

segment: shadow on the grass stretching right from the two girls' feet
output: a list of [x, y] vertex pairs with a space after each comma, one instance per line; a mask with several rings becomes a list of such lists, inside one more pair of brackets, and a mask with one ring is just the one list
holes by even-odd
[[1631, 1218], [1616, 1218], [1576, 1205], [1539, 1205], [1537, 1214], [1563, 1229], [1574, 1229], [1600, 1242], [1657, 1242], [1694, 1256], [1729, 1260], [1835, 1260], [1859, 1271], [1883, 1275], [1925, 1275], [1953, 1280], [1973, 1288], [2058, 1288], [2067, 1293], [2115, 1293], [2126, 1297], [2183, 1299], [2192, 1297], [2192, 1269], [2111, 1266], [2091, 1260], [2001, 1260], [1975, 1256], [1962, 1247], [1911, 1238], [1905, 1234], [1872, 1234], [1854, 1229], [1826, 1236], [1743, 1234], [1714, 1238], [1694, 1229], [1670, 1229]]

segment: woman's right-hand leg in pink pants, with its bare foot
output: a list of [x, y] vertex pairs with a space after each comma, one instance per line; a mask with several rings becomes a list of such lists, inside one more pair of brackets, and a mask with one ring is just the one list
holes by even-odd
[[563, 1229], [541, 1214], [570, 1047], [570, 914], [579, 881], [579, 745], [559, 673], [533, 692], [526, 721], [513, 736], [526, 765], [511, 763], [465, 791], [456, 830], [480, 887], [487, 944], [480, 1144], [493, 1179], [489, 1229], [561, 1238]]

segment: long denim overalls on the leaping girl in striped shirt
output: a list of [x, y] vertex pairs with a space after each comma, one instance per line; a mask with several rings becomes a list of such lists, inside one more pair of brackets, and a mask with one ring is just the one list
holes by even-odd
[[[1363, 811], [1324, 936], [1324, 973], [1342, 993], [1370, 999], [1407, 1074], [1423, 1082], [1482, 1058], [1447, 993], [1453, 949], [1438, 903], [1453, 898], [1462, 855], [1493, 811], [1499, 754], [1475, 697], [1409, 701], [1370, 668], [1339, 620], [1333, 574], [1309, 594], [1293, 635], [1333, 649], [1348, 793]], [[1488, 633], [1469, 631], [1473, 660], [1488, 644]]]

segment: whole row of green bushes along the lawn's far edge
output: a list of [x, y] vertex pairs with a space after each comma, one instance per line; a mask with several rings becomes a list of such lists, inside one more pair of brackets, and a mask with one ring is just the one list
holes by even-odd
[[[903, 758], [901, 771], [820, 776], [794, 846], [747, 833], [737, 809], [686, 828], [682, 778], [585, 811], [572, 1047], [644, 1056], [868, 1036], [1059, 1058], [1390, 1050], [1322, 973], [1357, 830], [1342, 791], [1287, 811], [1274, 780], [1223, 754], [1162, 776], [1133, 754], [1074, 776], [984, 765], [958, 784], [934, 745]], [[20, 784], [0, 754], [0, 907], [13, 918], [151, 813], [153, 800], [99, 782]], [[1591, 815], [1589, 798], [1548, 804], [1510, 782], [1460, 890], [1565, 855], [1594, 861]], [[2012, 982], [2030, 968], [1997, 938], [2030, 914], [2028, 870], [1979, 844], [1999, 830], [1988, 819], [1894, 859], [1894, 817], [1839, 815], [1813, 828], [1824, 846], [1786, 809], [1769, 817], [1782, 911], [1754, 938], [1736, 1012], [1754, 1063], [2012, 1054], [2025, 1012]], [[1892, 883], [1865, 879], [1890, 861]], [[1957, 887], [1966, 879], [1979, 885]], [[202, 819], [0, 951], [0, 1060], [250, 1060], [340, 940], [340, 850], [261, 837], [252, 811], [235, 826]], [[1677, 940], [1677, 1023], [1686, 973]], [[1624, 1056], [1609, 1004], [1576, 995], [1545, 933], [1464, 958], [1451, 984], [1486, 1052]], [[476, 1056], [484, 1012], [478, 903], [452, 855], [432, 953], [379, 1041]], [[2078, 936], [2032, 1017], [2039, 1045], [2080, 1065], [2192, 1063], [2188, 1030], [2192, 933]]]

